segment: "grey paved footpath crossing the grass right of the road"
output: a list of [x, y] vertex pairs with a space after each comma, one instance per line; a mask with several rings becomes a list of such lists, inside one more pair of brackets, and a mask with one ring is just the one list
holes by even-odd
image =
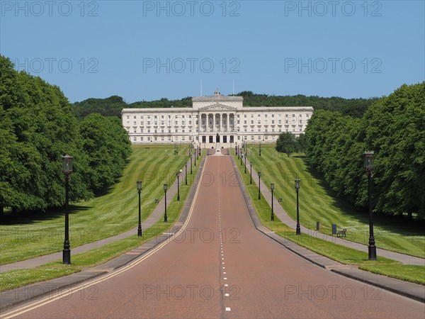
[[[240, 160], [240, 159], [239, 159]], [[237, 164], [240, 165], [240, 162], [235, 159], [235, 161], [237, 162]], [[242, 162], [244, 164], [244, 162]], [[249, 162], [246, 162], [246, 174], [249, 174]], [[244, 174], [242, 172], [242, 174]], [[258, 184], [258, 174], [256, 172], [256, 170], [254, 169], [254, 167], [252, 167], [252, 177], [253, 177], [253, 181], [255, 181], [256, 184]], [[254, 177], [257, 177], [256, 179]], [[271, 206], [271, 191], [270, 191], [270, 185], [266, 185], [263, 183], [263, 180], [260, 181], [261, 184], [261, 194], [262, 196], [264, 196], [264, 198], [266, 198], [267, 203]], [[294, 190], [295, 191], [295, 190]], [[300, 191], [300, 196], [302, 196], [301, 191]], [[288, 225], [290, 228], [295, 229], [297, 226], [297, 222], [296, 220], [293, 220], [288, 213], [286, 213], [286, 211], [282, 208], [282, 206], [280, 205], [280, 203], [278, 203], [278, 198], [274, 198], [274, 204], [273, 204], [273, 211], [274, 214], [280, 219], [280, 221], [282, 221], [282, 223], [285, 223], [286, 225]], [[302, 212], [300, 212], [300, 216], [301, 216]], [[300, 217], [302, 218], [302, 217]], [[302, 223], [302, 221], [300, 221], [300, 223]], [[355, 250], [361, 250], [362, 252], [368, 252], [368, 246], [367, 245], [363, 245], [360, 244], [358, 242], [351, 242], [350, 240], [346, 240], [343, 237], [335, 237], [335, 236], [331, 236], [331, 235], [327, 235], [327, 234], [323, 234], [323, 233], [319, 233], [316, 230], [311, 230], [309, 228], [305, 228], [304, 226], [301, 225], [301, 233], [306, 233], [308, 235], [312, 235], [314, 237], [319, 237], [320, 239], [323, 240], [327, 240], [328, 242], [334, 242], [336, 244], [339, 245], [343, 245], [346, 247], [350, 247], [353, 248]], [[398, 262], [402, 262], [403, 264], [414, 264], [414, 265], [419, 265], [419, 266], [425, 266], [425, 259], [424, 258], [420, 258], [420, 257], [414, 257], [414, 256], [409, 256], [407, 254], [401, 254], [399, 252], [392, 252], [390, 250], [382, 250], [377, 248], [376, 252], [379, 256], [382, 257], [386, 257], [386, 258], [390, 258], [393, 260], [397, 260]]]

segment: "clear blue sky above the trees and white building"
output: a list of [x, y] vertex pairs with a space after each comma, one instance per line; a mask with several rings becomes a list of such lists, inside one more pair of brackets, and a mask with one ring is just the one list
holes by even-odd
[[69, 101], [371, 97], [425, 78], [424, 1], [0, 1], [0, 52]]

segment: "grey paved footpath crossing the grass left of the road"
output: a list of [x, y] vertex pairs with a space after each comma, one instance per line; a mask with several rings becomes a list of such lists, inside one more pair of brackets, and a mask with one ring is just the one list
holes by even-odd
[[[182, 169], [183, 175], [180, 179], [180, 184], [184, 182], [184, 172], [185, 169], [183, 167]], [[190, 174], [190, 173], [188, 173]], [[177, 180], [174, 181], [174, 183], [169, 187], [169, 189], [166, 192], [167, 195], [167, 207], [171, 204], [171, 199], [174, 198], [174, 195], [177, 193]], [[143, 193], [142, 193], [142, 200], [143, 200]], [[157, 207], [152, 211], [152, 213], [149, 215], [149, 217], [146, 220], [142, 221], [142, 230], [146, 228], [152, 227], [160, 218], [163, 218], [164, 216], [164, 207], [165, 207], [165, 198], [164, 196], [159, 201]], [[137, 207], [135, 207], [135, 211], [137, 211]], [[137, 223], [137, 220], [135, 219], [135, 223]], [[87, 252], [89, 250], [93, 250], [98, 247], [102, 247], [103, 245], [109, 244], [110, 242], [115, 242], [117, 240], [121, 240], [123, 238], [130, 237], [132, 235], [137, 234], [137, 227], [133, 228], [132, 230], [128, 230], [125, 233], [121, 233], [112, 237], [104, 238], [103, 240], [98, 240], [96, 242], [90, 242], [86, 245], [81, 245], [78, 247], [72, 247], [71, 242], [71, 261], [72, 261], [72, 255], [73, 254], [79, 254], [81, 252]], [[31, 259], [22, 260], [21, 262], [13, 262], [11, 264], [3, 264], [0, 266], [0, 273], [1, 272], [8, 272], [10, 270], [14, 269], [30, 269], [35, 268], [38, 266], [41, 266], [42, 264], [47, 264], [48, 262], [55, 262], [56, 260], [62, 259], [62, 251], [61, 252], [55, 252], [53, 254], [45, 254], [44, 256], [35, 257]]]

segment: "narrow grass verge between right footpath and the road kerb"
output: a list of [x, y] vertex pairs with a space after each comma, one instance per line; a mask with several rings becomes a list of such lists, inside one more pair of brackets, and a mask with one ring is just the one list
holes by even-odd
[[[232, 152], [232, 155], [237, 161], [237, 156], [234, 155], [234, 152]], [[261, 146], [261, 157], [263, 157], [263, 146]], [[322, 254], [323, 256], [326, 256], [330, 259], [334, 259], [337, 262], [341, 262], [343, 264], [358, 264], [360, 265], [359, 268], [371, 272], [375, 272], [373, 269], [380, 269], [382, 274], [384, 274], [385, 271], [386, 276], [424, 284], [425, 267], [403, 265], [395, 260], [380, 256], [378, 256], [377, 261], [370, 261], [368, 260], [367, 252], [354, 250], [352, 248], [338, 245], [333, 242], [328, 242], [326, 240], [322, 240], [307, 234], [301, 234], [300, 236], [297, 236], [295, 235], [295, 230], [282, 223], [276, 216], [275, 220], [272, 222], [271, 207], [268, 205], [264, 196], [261, 196], [261, 200], [258, 199], [259, 189], [255, 183], [256, 179], [253, 179], [253, 184], [250, 185], [249, 173], [244, 174], [244, 168], [239, 164], [237, 166], [239, 167], [239, 172], [242, 176], [246, 189], [249, 192], [249, 196], [251, 197], [251, 201], [254, 205], [256, 213], [261, 220], [261, 223], [263, 223], [263, 225], [265, 225], [270, 230], [273, 230], [278, 235], [285, 237], [292, 242], [295, 242], [297, 245], [312, 250], [313, 252], [317, 252], [318, 254]], [[261, 170], [261, 177], [263, 177], [263, 170]], [[412, 269], [414, 272], [412, 272]]]

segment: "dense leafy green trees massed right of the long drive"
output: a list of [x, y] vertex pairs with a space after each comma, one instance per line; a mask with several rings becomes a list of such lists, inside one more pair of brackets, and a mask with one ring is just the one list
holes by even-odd
[[376, 213], [425, 218], [425, 82], [403, 85], [361, 118], [315, 111], [305, 130], [308, 161], [336, 194], [366, 206], [363, 152], [375, 152]]

